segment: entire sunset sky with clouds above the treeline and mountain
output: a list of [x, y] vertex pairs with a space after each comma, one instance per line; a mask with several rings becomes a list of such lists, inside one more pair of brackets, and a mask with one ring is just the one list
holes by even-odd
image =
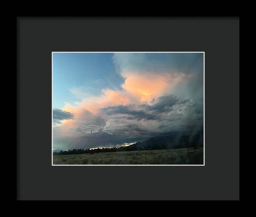
[[204, 53], [53, 53], [53, 149], [203, 128]]

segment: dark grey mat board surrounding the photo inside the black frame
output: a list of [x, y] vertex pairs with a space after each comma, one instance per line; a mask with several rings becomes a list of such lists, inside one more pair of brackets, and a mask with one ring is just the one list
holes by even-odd
[[[239, 200], [239, 25], [239, 16], [16, 17], [16, 199]], [[205, 166], [53, 167], [52, 51], [204, 51]]]

